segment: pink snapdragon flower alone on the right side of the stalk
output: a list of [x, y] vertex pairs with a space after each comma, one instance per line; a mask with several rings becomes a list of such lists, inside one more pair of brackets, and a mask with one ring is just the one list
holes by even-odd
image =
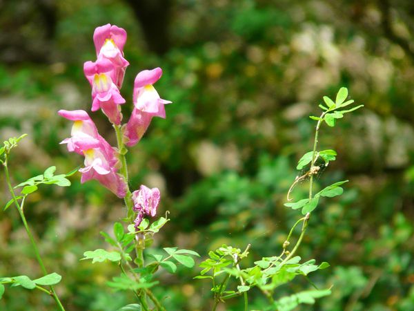
[[164, 105], [171, 102], [162, 100], [154, 86], [152, 86], [159, 80], [161, 75], [162, 70], [158, 67], [152, 70], [143, 70], [135, 77], [134, 109], [124, 133], [128, 147], [137, 144], [141, 140], [150, 125], [152, 117], [166, 117]]

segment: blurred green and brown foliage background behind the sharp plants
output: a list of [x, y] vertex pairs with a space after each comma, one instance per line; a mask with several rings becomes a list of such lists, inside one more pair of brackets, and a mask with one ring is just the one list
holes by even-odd
[[[322, 128], [321, 148], [335, 149], [317, 179], [324, 187], [351, 180], [345, 194], [324, 200], [299, 255], [332, 267], [311, 280], [333, 294], [299, 310], [414, 310], [414, 2], [411, 0], [3, 0], [0, 1], [1, 138], [28, 133], [11, 160], [16, 183], [52, 164], [79, 166], [59, 142], [70, 122], [59, 109], [90, 110], [83, 62], [95, 60], [92, 33], [105, 23], [128, 32], [130, 66], [122, 94], [124, 120], [132, 84], [161, 66], [167, 119], [153, 120], [128, 153], [130, 184], [159, 187], [159, 214], [172, 219], [154, 247], [178, 245], [206, 256], [222, 243], [244, 249], [249, 263], [279, 254], [298, 211], [283, 206], [311, 150], [317, 104], [341, 86], [357, 104], [335, 128]], [[102, 135], [115, 136], [100, 113]], [[3, 204], [9, 199], [3, 175]], [[57, 292], [67, 310], [116, 310], [133, 301], [106, 281], [116, 265], [79, 261], [105, 248], [99, 231], [122, 218], [121, 201], [97, 182], [41, 187], [26, 203], [29, 223], [49, 270], [63, 275]], [[306, 182], [293, 196], [302, 198]], [[168, 310], [209, 310], [199, 269], [158, 274]], [[0, 275], [40, 274], [17, 211], [0, 212]], [[311, 288], [298, 278], [277, 294]], [[252, 292], [252, 308], [266, 302]], [[221, 310], [241, 310], [235, 299]], [[8, 288], [0, 310], [55, 310], [52, 299]]]

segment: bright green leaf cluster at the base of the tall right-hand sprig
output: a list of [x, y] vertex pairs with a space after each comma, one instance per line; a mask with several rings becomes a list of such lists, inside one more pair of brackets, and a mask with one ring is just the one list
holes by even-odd
[[[208, 253], [210, 258], [199, 264], [199, 267], [204, 268], [201, 270], [195, 279], [211, 279], [212, 288], [211, 291], [215, 293], [219, 300], [232, 298], [234, 296], [240, 296], [244, 292], [248, 292], [251, 288], [257, 287], [263, 292], [270, 293], [273, 296], [273, 292], [277, 287], [292, 281], [295, 276], [302, 275], [308, 276], [311, 272], [316, 270], [322, 270], [329, 267], [329, 264], [324, 262], [320, 265], [315, 265], [315, 259], [300, 263], [301, 258], [295, 256], [288, 260], [282, 260], [282, 256], [264, 257], [259, 261], [255, 261], [253, 267], [240, 269], [239, 262], [248, 256], [248, 252], [242, 252], [240, 249], [231, 247], [228, 245], [222, 245], [214, 252]], [[212, 272], [207, 275], [208, 272]], [[218, 281], [218, 277], [221, 276], [221, 283]], [[224, 276], [224, 277], [223, 277]], [[239, 279], [241, 284], [237, 285], [236, 290], [227, 290], [228, 279], [232, 276], [235, 279]], [[310, 292], [310, 294], [308, 293]], [[277, 305], [277, 308], [288, 309], [289, 306], [298, 305], [299, 303], [313, 303], [315, 300], [310, 298], [318, 295], [324, 296], [325, 291], [308, 291], [300, 292], [292, 296], [284, 297], [275, 301], [273, 308]], [[299, 297], [295, 299], [291, 297]], [[296, 304], [294, 304], [296, 303]], [[290, 308], [290, 307], [289, 307]], [[295, 308], [295, 307], [293, 307]]]

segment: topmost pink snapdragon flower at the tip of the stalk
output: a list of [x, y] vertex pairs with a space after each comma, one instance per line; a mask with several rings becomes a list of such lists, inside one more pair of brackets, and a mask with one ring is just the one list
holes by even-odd
[[129, 62], [124, 58], [123, 51], [126, 42], [126, 31], [107, 23], [95, 29], [93, 41], [98, 59], [109, 59], [114, 65], [112, 80], [118, 88], [121, 88], [126, 67], [129, 65]]

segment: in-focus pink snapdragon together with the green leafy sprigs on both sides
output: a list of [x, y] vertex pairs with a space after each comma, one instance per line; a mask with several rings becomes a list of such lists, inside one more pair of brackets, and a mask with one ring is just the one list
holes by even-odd
[[[88, 180], [97, 180], [103, 187], [112, 191], [115, 196], [123, 199], [126, 207], [124, 224], [116, 222], [113, 226], [113, 234], [101, 232], [111, 248], [86, 251], [81, 260], [91, 260], [92, 263], [109, 261], [119, 266], [119, 276], [108, 281], [108, 286], [115, 290], [132, 291], [136, 296], [135, 303], [126, 305], [119, 310], [165, 310], [161, 303], [162, 299], [152, 292], [152, 288], [159, 283], [155, 273], [163, 269], [175, 273], [177, 265], [192, 268], [195, 266], [193, 257], [199, 256], [199, 254], [190, 249], [164, 247], [165, 253], [163, 254], [152, 253], [144, 256], [144, 251], [152, 245], [155, 234], [170, 219], [166, 213], [165, 217], [161, 216], [155, 221], [150, 221], [157, 216], [161, 193], [158, 188], [150, 188], [146, 185], [140, 185], [138, 189], [131, 191], [126, 153], [128, 153], [129, 147], [135, 146], [143, 138], [152, 117], [166, 117], [164, 105], [171, 102], [161, 99], [153, 86], [161, 78], [161, 68], [142, 70], [135, 77], [132, 113], [129, 120], [122, 123], [124, 116], [121, 113], [121, 105], [126, 104], [126, 100], [121, 95], [121, 86], [126, 68], [129, 65], [124, 57], [126, 36], [124, 29], [110, 24], [96, 28], [93, 41], [97, 59], [95, 62], [88, 61], [83, 66], [86, 79], [92, 88], [91, 111], [101, 110], [108, 117], [108, 121], [115, 130], [117, 145], [112, 146], [99, 134], [92, 118], [83, 110], [58, 111], [61, 117], [73, 122], [70, 137], [64, 139], [61, 144], [66, 144], [69, 152], [75, 152], [84, 157], [84, 166], [79, 169], [82, 183]], [[292, 209], [301, 209], [304, 216], [299, 218], [290, 229], [282, 244], [282, 252], [278, 256], [263, 257], [261, 260], [255, 261], [253, 267], [242, 267], [242, 261], [248, 257], [249, 249], [252, 246], [248, 244], [242, 252], [237, 247], [222, 245], [215, 251], [209, 252], [209, 258], [199, 264], [202, 270], [199, 276], [195, 276], [195, 279], [211, 280], [211, 292], [214, 295], [213, 310], [216, 310], [219, 303], [237, 296], [243, 296], [244, 310], [248, 310], [248, 292], [252, 288], [259, 289], [268, 299], [266, 310], [292, 310], [299, 303], [312, 304], [316, 298], [331, 293], [330, 289], [306, 290], [275, 299], [275, 290], [279, 285], [288, 283], [295, 276], [307, 276], [311, 272], [329, 266], [328, 263], [316, 265], [314, 259], [301, 263], [301, 258], [294, 255], [302, 243], [311, 219], [311, 213], [319, 204], [319, 200], [341, 195], [344, 190], [340, 186], [348, 181], [335, 182], [317, 194], [313, 193], [314, 176], [322, 165], [327, 166], [337, 156], [332, 149], [317, 150], [320, 127], [323, 123], [335, 126], [336, 120], [344, 117], [344, 114], [362, 106], [344, 109], [345, 106], [353, 103], [353, 100], [347, 100], [347, 97], [348, 90], [341, 88], [335, 101], [324, 97], [326, 106], [319, 105], [323, 110], [319, 117], [311, 116], [313, 120], [317, 121], [313, 150], [305, 153], [299, 160], [297, 169], [304, 170], [304, 173], [299, 173], [293, 182], [288, 191], [288, 202], [285, 204], [286, 207]], [[12, 286], [21, 286], [28, 290], [37, 289], [45, 292], [55, 299], [59, 310], [65, 310], [54, 288], [54, 285], [61, 281], [61, 276], [56, 272], [49, 274], [46, 270], [34, 237], [30, 232], [23, 207], [26, 197], [37, 191], [39, 185], [70, 186], [68, 176], [75, 173], [77, 169], [67, 174], [55, 175], [56, 167], [49, 167], [43, 174], [34, 176], [13, 187], [8, 170], [8, 160], [10, 151], [17, 147], [23, 137], [24, 135], [19, 138], [10, 138], [0, 148], [0, 162], [3, 164], [6, 182], [12, 196], [5, 210], [14, 204], [19, 211], [43, 276], [37, 279], [26, 275], [1, 278], [0, 298], [5, 290], [4, 284], [12, 284]], [[309, 180], [308, 198], [290, 202], [293, 200], [291, 192], [295, 185], [306, 179]], [[15, 194], [14, 189], [20, 187], [20, 194]], [[290, 247], [295, 229], [301, 227], [301, 224], [302, 229], [299, 237], [294, 246]], [[150, 262], [148, 262], [149, 258], [151, 258]], [[232, 285], [231, 281], [239, 283], [235, 290], [228, 290], [228, 287]]]

